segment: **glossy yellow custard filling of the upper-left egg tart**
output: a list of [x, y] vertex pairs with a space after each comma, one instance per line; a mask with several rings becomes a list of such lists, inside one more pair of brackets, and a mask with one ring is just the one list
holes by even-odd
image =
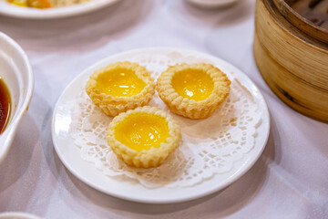
[[146, 85], [133, 70], [117, 68], [99, 75], [96, 86], [100, 92], [113, 97], [131, 97], [140, 93]]

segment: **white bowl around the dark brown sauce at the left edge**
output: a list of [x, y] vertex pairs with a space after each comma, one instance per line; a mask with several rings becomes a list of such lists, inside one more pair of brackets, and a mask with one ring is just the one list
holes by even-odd
[[34, 89], [34, 77], [26, 53], [9, 36], [0, 32], [0, 77], [11, 97], [10, 118], [0, 134], [0, 162], [4, 160], [20, 121], [28, 110]]

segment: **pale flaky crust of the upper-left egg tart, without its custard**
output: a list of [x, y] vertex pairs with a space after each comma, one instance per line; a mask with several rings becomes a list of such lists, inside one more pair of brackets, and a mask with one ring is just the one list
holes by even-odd
[[[138, 78], [146, 83], [144, 89], [138, 94], [130, 97], [114, 97], [101, 92], [97, 88], [97, 78], [102, 74], [106, 74], [118, 68], [132, 70]], [[154, 79], [151, 78], [150, 72], [145, 67], [139, 66], [138, 63], [130, 63], [128, 61], [116, 62], [114, 64], [109, 64], [105, 68], [97, 69], [87, 80], [86, 92], [100, 110], [105, 112], [108, 116], [117, 116], [120, 112], [125, 112], [148, 104], [155, 93], [155, 82]]]

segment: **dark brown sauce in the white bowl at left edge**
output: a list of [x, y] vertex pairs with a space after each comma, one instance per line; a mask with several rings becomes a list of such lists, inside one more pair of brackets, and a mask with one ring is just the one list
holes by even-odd
[[0, 134], [5, 130], [5, 125], [10, 115], [10, 94], [5, 82], [0, 77]]

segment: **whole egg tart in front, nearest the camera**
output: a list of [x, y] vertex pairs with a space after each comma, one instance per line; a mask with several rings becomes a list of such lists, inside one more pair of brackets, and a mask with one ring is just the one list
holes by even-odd
[[108, 126], [108, 145], [129, 166], [157, 167], [179, 147], [179, 124], [167, 112], [140, 107], [120, 113]]

